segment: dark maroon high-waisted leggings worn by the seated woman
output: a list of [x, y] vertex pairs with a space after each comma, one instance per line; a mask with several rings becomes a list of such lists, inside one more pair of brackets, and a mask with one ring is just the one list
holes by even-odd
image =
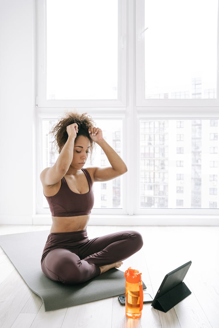
[[99, 266], [122, 261], [142, 248], [137, 231], [121, 231], [88, 239], [87, 230], [51, 233], [43, 250], [43, 273], [66, 284], [85, 282], [100, 274]]

